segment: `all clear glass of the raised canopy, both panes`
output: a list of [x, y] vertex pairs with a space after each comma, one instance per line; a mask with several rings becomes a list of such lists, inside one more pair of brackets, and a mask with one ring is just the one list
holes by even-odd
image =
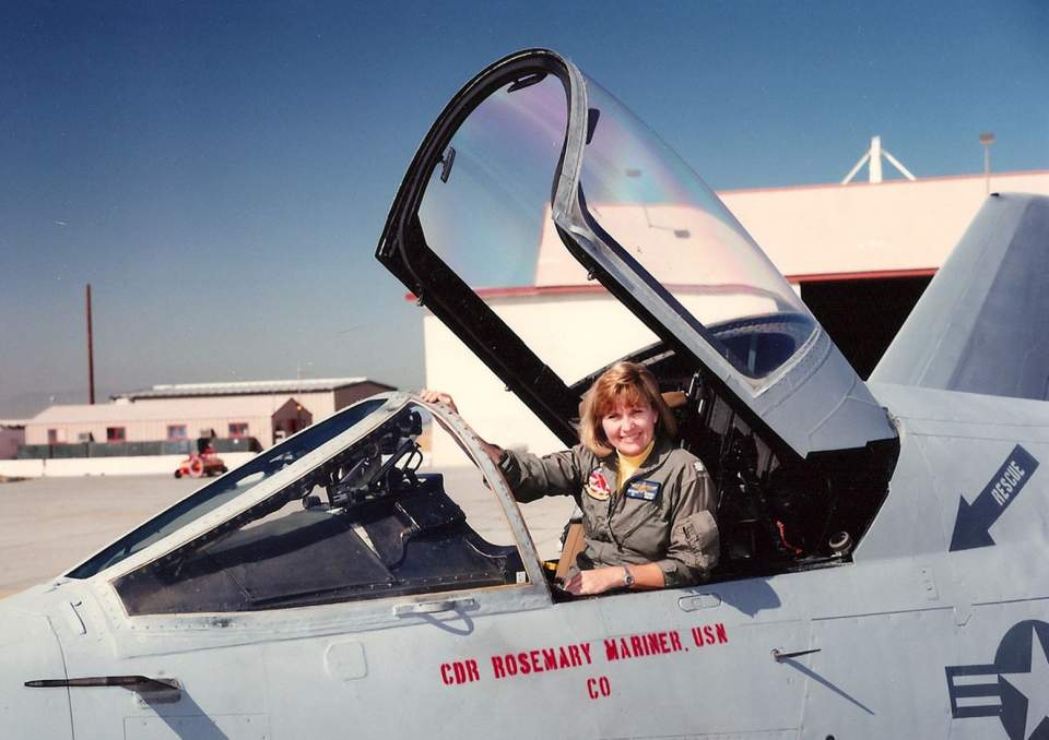
[[[494, 92], [460, 126], [419, 217], [428, 247], [544, 363], [575, 382], [658, 337], [565, 248], [551, 202], [568, 97], [554, 75], [529, 82]], [[611, 94], [586, 84], [585, 212], [610, 247], [663, 285], [677, 313], [696, 319], [704, 341], [761, 384], [795, 355], [815, 320], [703, 180]], [[580, 349], [581, 334], [613, 325]]]

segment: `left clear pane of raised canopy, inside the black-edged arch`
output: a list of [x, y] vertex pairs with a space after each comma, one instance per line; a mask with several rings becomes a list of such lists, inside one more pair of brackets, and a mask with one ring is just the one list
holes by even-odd
[[[556, 76], [499, 88], [456, 131], [444, 153], [451, 165], [432, 172], [419, 217], [429, 249], [547, 367], [574, 382], [657, 337], [587, 279], [554, 226], [551, 200], [567, 126], [568, 98]], [[534, 300], [537, 294], [545, 299]], [[609, 321], [620, 326], [614, 336], [581, 347], [581, 332]]]

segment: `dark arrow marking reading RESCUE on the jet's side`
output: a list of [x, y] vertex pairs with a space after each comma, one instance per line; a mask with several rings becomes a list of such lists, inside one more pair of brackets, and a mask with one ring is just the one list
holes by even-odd
[[1018, 444], [973, 503], [963, 497], [951, 536], [951, 552], [994, 545], [989, 529], [1005, 513], [1038, 469], [1038, 461]]

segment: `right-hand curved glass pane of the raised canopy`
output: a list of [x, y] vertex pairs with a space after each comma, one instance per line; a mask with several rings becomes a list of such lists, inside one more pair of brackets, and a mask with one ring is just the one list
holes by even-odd
[[816, 325], [801, 299], [651, 129], [590, 80], [587, 94], [591, 134], [581, 192], [589, 215], [708, 330], [707, 339], [738, 370], [751, 379], [775, 371]]

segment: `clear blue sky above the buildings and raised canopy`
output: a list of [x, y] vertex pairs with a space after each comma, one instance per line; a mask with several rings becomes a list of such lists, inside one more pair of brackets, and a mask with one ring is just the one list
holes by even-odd
[[[1049, 3], [16, 2], [0, 13], [0, 418], [167, 382], [423, 381], [373, 253], [433, 118], [553, 48], [716, 189], [1049, 169]], [[887, 171], [887, 170], [886, 170]]]

